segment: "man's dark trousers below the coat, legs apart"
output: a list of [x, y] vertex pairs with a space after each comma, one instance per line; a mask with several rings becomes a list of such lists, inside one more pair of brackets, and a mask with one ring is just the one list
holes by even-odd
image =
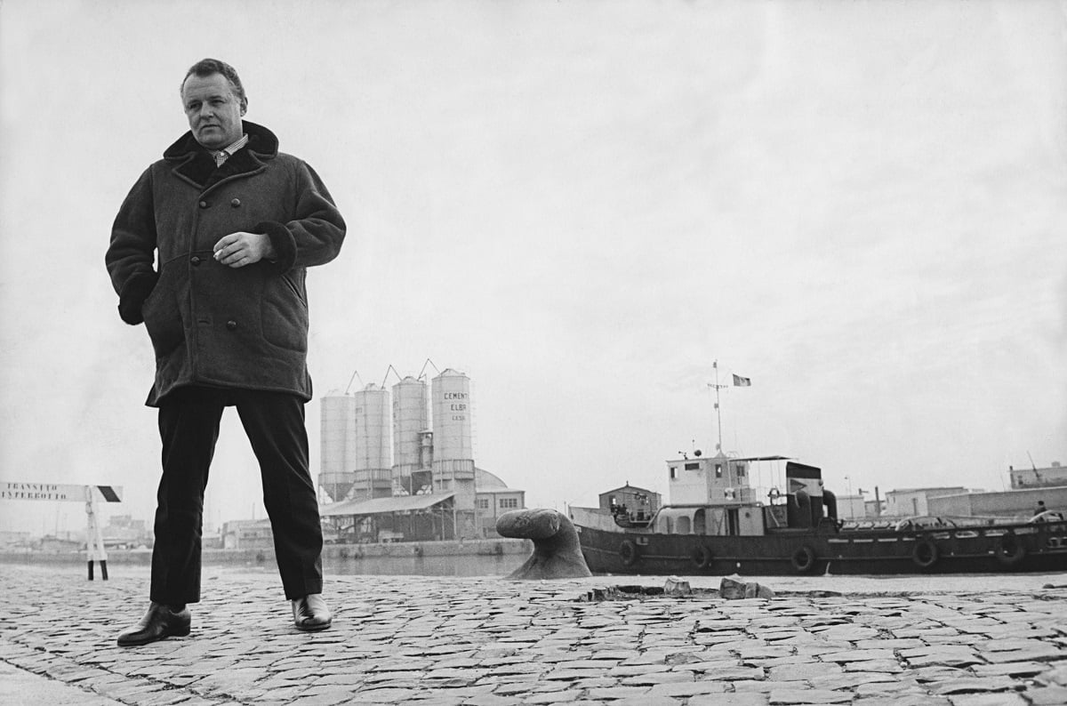
[[304, 403], [285, 392], [185, 387], [159, 405], [163, 477], [156, 508], [152, 600], [197, 603], [204, 490], [226, 406], [259, 461], [274, 553], [289, 599], [322, 592], [322, 528], [307, 464]]

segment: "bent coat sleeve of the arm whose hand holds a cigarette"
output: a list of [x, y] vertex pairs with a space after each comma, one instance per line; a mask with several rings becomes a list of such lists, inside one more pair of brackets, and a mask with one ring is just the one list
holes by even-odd
[[274, 246], [277, 258], [273, 267], [278, 274], [324, 264], [337, 257], [345, 241], [345, 219], [315, 170], [298, 161], [294, 183], [296, 218], [288, 223], [264, 221], [255, 226]]

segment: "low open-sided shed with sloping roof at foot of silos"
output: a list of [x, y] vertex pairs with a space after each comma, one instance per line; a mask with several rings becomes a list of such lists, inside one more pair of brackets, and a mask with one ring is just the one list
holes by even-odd
[[338, 542], [425, 542], [455, 537], [453, 493], [399, 495], [324, 506]]

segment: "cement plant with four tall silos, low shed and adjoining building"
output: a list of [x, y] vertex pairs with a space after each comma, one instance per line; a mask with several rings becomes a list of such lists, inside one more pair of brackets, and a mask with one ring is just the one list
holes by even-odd
[[[525, 493], [475, 467], [471, 380], [448, 368], [321, 400], [321, 514], [337, 541], [495, 536]], [[392, 411], [392, 415], [391, 415]], [[392, 420], [391, 417], [392, 416]], [[392, 423], [391, 423], [392, 422]]]

